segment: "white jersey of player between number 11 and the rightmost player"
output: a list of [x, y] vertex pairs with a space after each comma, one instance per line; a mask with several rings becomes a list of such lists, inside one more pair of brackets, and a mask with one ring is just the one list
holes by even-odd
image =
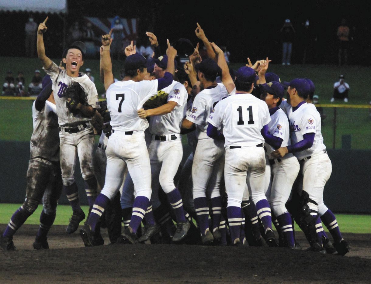
[[[270, 135], [281, 138], [282, 144], [281, 147], [286, 147], [291, 145], [290, 143], [290, 129], [289, 129], [289, 120], [285, 112], [282, 109], [277, 109], [275, 113], [270, 116], [270, 122], [268, 123], [268, 132]], [[267, 149], [267, 155], [269, 159], [273, 159], [270, 155], [276, 149], [273, 149], [268, 143], [265, 143], [265, 148]]]

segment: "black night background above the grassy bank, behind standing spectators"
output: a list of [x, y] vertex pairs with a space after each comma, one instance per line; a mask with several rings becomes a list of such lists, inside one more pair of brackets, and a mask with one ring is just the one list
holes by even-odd
[[[146, 42], [146, 31], [154, 32], [160, 45], [166, 39], [173, 42], [180, 37], [195, 45], [196, 22], [200, 23], [208, 39], [230, 51], [231, 62], [245, 62], [269, 56], [275, 63], [281, 60], [282, 44], [279, 30], [290, 19], [296, 36], [293, 42], [292, 63], [301, 63], [303, 29], [308, 19], [313, 40], [308, 44], [309, 63], [337, 64], [337, 27], [344, 17], [351, 29], [349, 63], [371, 65], [370, 1], [100, 1], [68, 0], [67, 30], [83, 16], [138, 18], [138, 43]], [[0, 12], [0, 56], [24, 56], [24, 24], [29, 15], [37, 23], [45, 13]], [[49, 15], [45, 34], [47, 55], [59, 57], [63, 51], [63, 20]], [[67, 34], [68, 36], [68, 34]], [[317, 40], [314, 40], [314, 37]], [[163, 50], [165, 52], [165, 48]]]

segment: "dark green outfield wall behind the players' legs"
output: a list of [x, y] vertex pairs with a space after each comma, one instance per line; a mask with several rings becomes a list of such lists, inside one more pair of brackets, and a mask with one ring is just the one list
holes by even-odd
[[[0, 203], [22, 203], [26, 192], [29, 142], [0, 141]], [[190, 148], [184, 148], [184, 159]], [[335, 212], [371, 213], [371, 150], [328, 149], [332, 175], [325, 186], [324, 201]], [[83, 180], [76, 166], [76, 182], [82, 204], [87, 204]], [[62, 192], [60, 204], [68, 204]]]

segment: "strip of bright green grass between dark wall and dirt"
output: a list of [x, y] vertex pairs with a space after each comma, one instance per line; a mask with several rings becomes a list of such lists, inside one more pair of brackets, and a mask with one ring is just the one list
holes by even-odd
[[[0, 204], [0, 224], [7, 224], [10, 217], [21, 204]], [[82, 206], [84, 212], [88, 212], [88, 206]], [[31, 215], [25, 224], [37, 225], [39, 224], [39, 217], [42, 206], [39, 206], [36, 212]], [[57, 216], [55, 218], [55, 225], [68, 225], [68, 220], [72, 215], [72, 209], [69, 205], [59, 205], [57, 208]], [[344, 233], [354, 234], [371, 234], [371, 215], [355, 215], [355, 214], [336, 214], [336, 220], [339, 227]], [[296, 226], [296, 229], [298, 227]], [[325, 228], [325, 231], [328, 231]]]

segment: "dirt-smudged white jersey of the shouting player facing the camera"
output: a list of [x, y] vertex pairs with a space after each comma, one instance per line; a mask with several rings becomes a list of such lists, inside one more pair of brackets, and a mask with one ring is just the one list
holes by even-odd
[[58, 122], [61, 126], [73, 126], [79, 124], [79, 122], [89, 121], [91, 118], [83, 116], [81, 113], [73, 114], [66, 106], [67, 99], [65, 98], [65, 92], [67, 87], [71, 86], [73, 82], [78, 82], [86, 93], [86, 100], [88, 105], [93, 108], [100, 108], [98, 93], [96, 91], [94, 83], [89, 79], [85, 73], [79, 73], [79, 77], [70, 77], [67, 75], [66, 70], [62, 70], [54, 62], [49, 69], [45, 69], [45, 72], [50, 75], [54, 91], [54, 100], [57, 106]]

